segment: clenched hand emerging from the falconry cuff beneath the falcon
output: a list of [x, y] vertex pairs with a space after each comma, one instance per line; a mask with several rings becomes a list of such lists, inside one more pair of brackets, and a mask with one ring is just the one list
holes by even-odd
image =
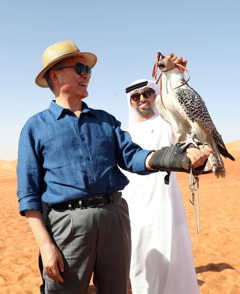
[[210, 153], [212, 152], [212, 149], [208, 145], [205, 145], [204, 148], [202, 148], [202, 146], [203, 145], [199, 145], [198, 149], [187, 149], [187, 157], [190, 159], [193, 169], [203, 165], [205, 160], [209, 157]]

